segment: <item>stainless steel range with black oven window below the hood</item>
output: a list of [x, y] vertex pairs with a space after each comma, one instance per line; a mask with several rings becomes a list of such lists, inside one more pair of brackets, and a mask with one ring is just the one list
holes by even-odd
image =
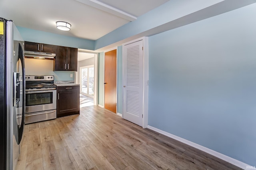
[[25, 124], [56, 118], [54, 76], [26, 76]]

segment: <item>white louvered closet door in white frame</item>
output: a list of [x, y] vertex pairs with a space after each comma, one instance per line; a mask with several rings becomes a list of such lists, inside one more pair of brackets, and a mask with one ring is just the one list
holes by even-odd
[[142, 126], [143, 42], [123, 46], [123, 118]]

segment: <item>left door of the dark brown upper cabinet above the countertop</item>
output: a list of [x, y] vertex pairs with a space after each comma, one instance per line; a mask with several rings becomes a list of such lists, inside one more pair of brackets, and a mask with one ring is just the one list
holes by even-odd
[[67, 49], [67, 47], [57, 47], [55, 57], [55, 71], [66, 71], [68, 69]]

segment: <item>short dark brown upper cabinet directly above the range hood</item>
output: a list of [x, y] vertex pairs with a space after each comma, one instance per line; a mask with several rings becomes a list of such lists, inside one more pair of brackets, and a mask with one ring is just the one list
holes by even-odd
[[42, 43], [25, 41], [25, 51], [55, 53], [56, 46], [50, 45], [50, 44], [42, 44]]

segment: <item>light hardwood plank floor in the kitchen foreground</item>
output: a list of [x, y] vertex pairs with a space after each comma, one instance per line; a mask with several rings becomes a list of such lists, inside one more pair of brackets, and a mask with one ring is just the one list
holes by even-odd
[[16, 170], [241, 170], [98, 106], [27, 124], [22, 140]]

